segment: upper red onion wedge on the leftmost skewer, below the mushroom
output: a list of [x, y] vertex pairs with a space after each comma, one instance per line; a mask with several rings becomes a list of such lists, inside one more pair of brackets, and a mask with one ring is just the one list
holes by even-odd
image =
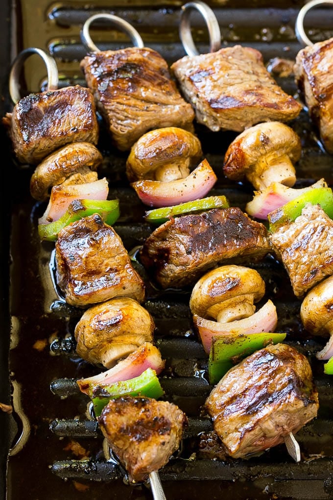
[[106, 177], [84, 184], [55, 185], [52, 187], [46, 210], [38, 219], [38, 223], [48, 224], [58, 220], [74, 199], [106, 199], [108, 193], [109, 185]]

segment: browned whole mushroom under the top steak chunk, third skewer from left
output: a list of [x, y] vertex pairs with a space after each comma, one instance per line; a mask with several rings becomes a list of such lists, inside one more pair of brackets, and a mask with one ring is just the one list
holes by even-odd
[[300, 159], [301, 151], [301, 139], [291, 127], [280, 121], [259, 123], [230, 144], [224, 173], [233, 180], [246, 177], [255, 189], [265, 189], [272, 182], [291, 187], [296, 182], [293, 162]]

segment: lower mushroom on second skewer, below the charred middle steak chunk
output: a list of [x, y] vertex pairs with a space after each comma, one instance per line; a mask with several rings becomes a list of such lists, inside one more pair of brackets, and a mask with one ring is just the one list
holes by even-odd
[[212, 269], [195, 284], [190, 309], [201, 317], [229, 322], [252, 315], [254, 302], [265, 294], [260, 274], [241, 265], [223, 265]]

